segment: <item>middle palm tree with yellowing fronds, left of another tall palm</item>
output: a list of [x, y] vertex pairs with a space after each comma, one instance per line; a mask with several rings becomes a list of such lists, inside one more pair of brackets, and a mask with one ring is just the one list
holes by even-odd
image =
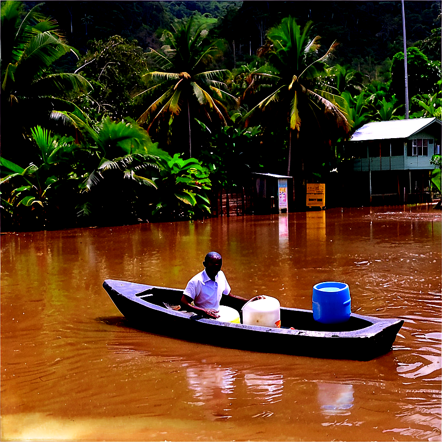
[[192, 23], [190, 18], [175, 33], [166, 31], [163, 38], [170, 44], [163, 46], [162, 51], [151, 49], [158, 70], [149, 72], [144, 78], [151, 82], [159, 81], [138, 94], [155, 96], [138, 119], [141, 124], [149, 123], [149, 133], [158, 128], [161, 121], [167, 124], [184, 113], [183, 130], [186, 131], [189, 157], [192, 156], [192, 115], [209, 124], [212, 118], [216, 118], [218, 124], [225, 125], [229, 119], [227, 104], [236, 105], [236, 99], [221, 81], [228, 71], [208, 70], [214, 55], [219, 52], [217, 42], [208, 41], [205, 24], [194, 29]]

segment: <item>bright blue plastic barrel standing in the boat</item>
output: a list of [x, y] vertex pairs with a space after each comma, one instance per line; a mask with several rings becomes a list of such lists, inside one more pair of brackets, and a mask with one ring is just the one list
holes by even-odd
[[313, 319], [323, 324], [338, 324], [350, 319], [351, 298], [348, 284], [320, 282], [313, 286]]

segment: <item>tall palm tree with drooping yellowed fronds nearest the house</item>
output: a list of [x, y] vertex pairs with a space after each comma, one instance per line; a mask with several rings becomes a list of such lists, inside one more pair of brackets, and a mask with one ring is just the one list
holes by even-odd
[[[321, 75], [326, 74], [324, 61], [336, 47], [334, 42], [324, 56], [313, 59], [320, 44], [317, 36], [309, 41], [307, 33], [312, 25], [308, 22], [303, 30], [292, 17], [284, 18], [280, 25], [271, 28], [267, 34], [268, 42], [261, 48], [259, 56], [266, 56], [266, 69], [251, 74], [249, 90], [245, 96], [262, 93], [264, 87], [270, 88], [245, 119], [250, 118], [256, 110], [273, 110], [279, 121], [289, 125], [289, 155], [287, 174], [291, 172], [292, 140], [299, 137], [301, 128], [306, 125], [314, 130], [314, 138], [319, 136], [326, 144], [340, 136], [346, 136], [350, 127], [342, 107], [338, 106], [339, 96], [333, 95], [317, 86]], [[312, 125], [314, 129], [312, 129]], [[300, 153], [300, 152], [299, 152]], [[302, 158], [302, 155], [301, 155]], [[303, 169], [303, 159], [301, 160]]]

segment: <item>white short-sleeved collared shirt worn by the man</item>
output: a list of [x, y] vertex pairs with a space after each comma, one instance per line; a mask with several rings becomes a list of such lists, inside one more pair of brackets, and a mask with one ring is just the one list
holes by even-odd
[[197, 307], [213, 308], [214, 310], [220, 309], [222, 294], [228, 295], [229, 293], [229, 283], [221, 270], [215, 276], [215, 281], [212, 281], [204, 269], [196, 274], [184, 289], [184, 295], [192, 298]]

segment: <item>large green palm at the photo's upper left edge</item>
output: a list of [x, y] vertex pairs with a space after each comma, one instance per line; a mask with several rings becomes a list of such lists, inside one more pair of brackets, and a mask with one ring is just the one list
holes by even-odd
[[72, 111], [72, 100], [91, 87], [81, 75], [55, 72], [53, 63], [68, 53], [77, 56], [76, 50], [55, 20], [38, 14], [37, 6], [22, 18], [21, 5], [1, 4], [1, 134], [8, 157], [20, 151], [20, 134], [31, 138], [30, 128], [47, 125], [55, 109]]

